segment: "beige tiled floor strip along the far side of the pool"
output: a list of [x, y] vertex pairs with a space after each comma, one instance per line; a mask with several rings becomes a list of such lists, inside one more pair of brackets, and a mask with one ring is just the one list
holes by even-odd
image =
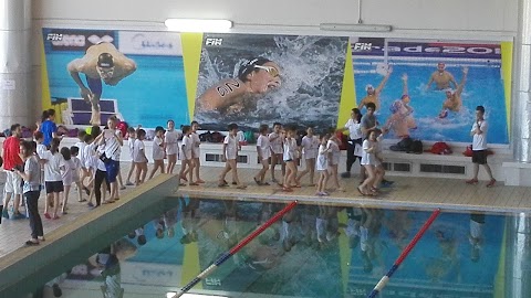
[[[362, 196], [356, 187], [358, 178], [341, 179], [344, 192], [332, 191], [329, 198], [315, 195], [315, 189], [308, 187], [308, 175], [303, 178], [302, 188], [293, 189], [293, 192], [283, 192], [279, 185], [259, 187], [252, 181], [257, 173], [254, 169], [238, 169], [240, 180], [248, 185], [246, 190], [236, 187], [218, 188], [218, 177], [221, 168], [208, 168], [201, 171], [201, 179], [207, 183], [199, 187], [183, 187], [180, 192], [200, 198], [244, 198], [244, 199], [277, 199], [300, 200], [309, 202], [368, 204], [386, 207], [419, 207], [452, 211], [477, 210], [487, 212], [530, 212], [531, 213], [531, 188], [504, 187], [498, 182], [493, 188], [486, 188], [486, 182], [480, 181], [476, 185], [468, 185], [458, 179], [434, 179], [412, 177], [389, 177], [395, 181], [391, 188], [382, 189], [377, 196]], [[277, 177], [280, 175], [277, 174]], [[230, 173], [226, 180], [230, 182]], [[268, 173], [268, 179], [270, 174]], [[304, 180], [306, 179], [306, 180]], [[329, 183], [330, 184], [330, 183]]]

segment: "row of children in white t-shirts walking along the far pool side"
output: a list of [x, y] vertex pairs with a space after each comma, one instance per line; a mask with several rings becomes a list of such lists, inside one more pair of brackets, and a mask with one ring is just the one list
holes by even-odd
[[[361, 129], [360, 126], [358, 129]], [[148, 179], [153, 178], [157, 171], [173, 173], [179, 158], [181, 160], [179, 184], [181, 187], [196, 187], [205, 183], [200, 178], [201, 141], [198, 130], [199, 124], [197, 121], [181, 126], [180, 131], [175, 129], [173, 120], [167, 121], [166, 130], [160, 126], [157, 127], [153, 139], [153, 168]], [[266, 181], [267, 173], [270, 171], [271, 182], [279, 184], [285, 192], [292, 192], [294, 188], [301, 188], [301, 180], [306, 175], [310, 182], [308, 185], [316, 188], [316, 195], [326, 196], [330, 190], [345, 191], [340, 183], [339, 175], [342, 141], [335, 132], [336, 130], [332, 129], [317, 137], [313, 128], [308, 127], [304, 136], [301, 137], [298, 135], [295, 126], [283, 127], [282, 124], [274, 123], [271, 131], [268, 125], [261, 125], [257, 139], [257, 152], [262, 167], [253, 177], [254, 182], [261, 187], [270, 185]], [[360, 153], [361, 166], [364, 170], [362, 171], [363, 180], [358, 191], [363, 195], [376, 194], [383, 179], [382, 149], [378, 146], [381, 134], [382, 131], [378, 129], [371, 130]], [[361, 131], [360, 135], [362, 135]], [[148, 158], [145, 153], [145, 137], [146, 131], [142, 128], [129, 127], [127, 130], [127, 143], [132, 159], [126, 180], [127, 185], [139, 185], [146, 178]], [[230, 124], [221, 149], [221, 159], [226, 166], [219, 175], [218, 187], [220, 188], [229, 185], [226, 180], [229, 172], [231, 172], [231, 182], [237, 189], [247, 188], [238, 177], [240, 141], [238, 125]], [[165, 159], [168, 162], [166, 167], [164, 164]], [[301, 171], [298, 169], [299, 163], [304, 164], [304, 169]], [[281, 180], [275, 177], [277, 166], [281, 166]], [[315, 177], [315, 171], [317, 171], [319, 177]], [[133, 173], [136, 173], [134, 183], [131, 182]], [[327, 188], [329, 181], [331, 183], [330, 189]]]

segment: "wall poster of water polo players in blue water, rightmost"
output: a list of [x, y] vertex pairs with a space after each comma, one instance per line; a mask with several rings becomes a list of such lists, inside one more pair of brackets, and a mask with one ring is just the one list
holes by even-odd
[[507, 145], [511, 43], [351, 39], [355, 98], [388, 138], [470, 142], [483, 106], [489, 143]]

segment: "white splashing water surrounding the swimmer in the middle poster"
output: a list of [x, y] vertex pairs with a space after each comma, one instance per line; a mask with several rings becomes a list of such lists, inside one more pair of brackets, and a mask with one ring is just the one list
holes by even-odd
[[[225, 40], [230, 39], [225, 38]], [[223, 40], [223, 41], [225, 41]], [[244, 40], [243, 40], [244, 41]], [[196, 111], [206, 129], [225, 129], [235, 121], [243, 128], [280, 121], [324, 129], [335, 126], [343, 83], [346, 38], [262, 35], [253, 43], [202, 49], [198, 95], [220, 79], [236, 77], [250, 56], [263, 56], [280, 66], [282, 86], [254, 97], [256, 107], [236, 115]]]

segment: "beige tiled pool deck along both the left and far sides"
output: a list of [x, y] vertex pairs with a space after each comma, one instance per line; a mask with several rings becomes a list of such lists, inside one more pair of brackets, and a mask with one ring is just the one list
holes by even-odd
[[[129, 164], [124, 162], [123, 166], [122, 171], [125, 174]], [[257, 173], [256, 169], [238, 170], [241, 181], [248, 185], [246, 190], [236, 189], [235, 185], [218, 188], [217, 180], [221, 170], [222, 168], [204, 167], [201, 178], [207, 182], [198, 187], [181, 187], [175, 195], [283, 202], [299, 200], [301, 203], [369, 205], [391, 209], [433, 210], [440, 207], [442, 211], [449, 212], [531, 213], [531, 188], [504, 187], [502, 182], [498, 182], [494, 188], [486, 188], [485, 181], [480, 181], [477, 185], [468, 185], [464, 180], [458, 179], [389, 177], [389, 180], [395, 181], [393, 187], [382, 189], [377, 196], [362, 196], [356, 190], [358, 179], [353, 177], [341, 179], [344, 192], [331, 191], [330, 196], [316, 196], [315, 189], [308, 187], [308, 175], [302, 181], [302, 188], [293, 189], [293, 192], [283, 192], [279, 185], [257, 185], [252, 181], [252, 177]], [[277, 177], [281, 177], [280, 170], [277, 172]], [[270, 173], [268, 173], [269, 178]], [[230, 182], [230, 173], [227, 175], [227, 180]], [[3, 189], [3, 183], [0, 187]], [[127, 187], [127, 190], [122, 191], [121, 194], [125, 195], [133, 190], [135, 187]], [[42, 210], [44, 200], [43, 194], [41, 195], [40, 209]], [[43, 219], [44, 234], [45, 236], [53, 234], [53, 231], [75, 222], [86, 213], [104, 214], [119, 205], [119, 203], [107, 204], [96, 210], [90, 210], [86, 203], [79, 203], [76, 196], [71, 194], [69, 214], [55, 221]], [[21, 248], [30, 249], [24, 248], [24, 242], [29, 238], [29, 234], [28, 220], [3, 219], [0, 225], [0, 259]]]

